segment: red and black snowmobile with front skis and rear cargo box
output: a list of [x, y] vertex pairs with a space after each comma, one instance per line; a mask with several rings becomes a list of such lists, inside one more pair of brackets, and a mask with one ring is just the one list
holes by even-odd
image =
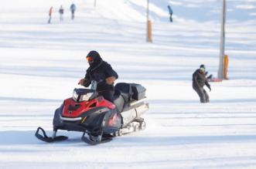
[[[56, 136], [57, 130], [84, 132], [81, 137], [87, 144], [96, 145], [112, 140], [122, 134], [145, 129], [142, 114], [148, 110], [145, 103], [145, 87], [136, 83], [117, 83], [114, 103], [105, 100], [95, 90], [93, 80], [90, 89], [75, 88], [73, 97], [64, 100], [53, 117], [53, 135], [48, 137], [42, 127], [35, 136], [46, 142], [67, 140]], [[42, 134], [39, 132], [42, 131]]]

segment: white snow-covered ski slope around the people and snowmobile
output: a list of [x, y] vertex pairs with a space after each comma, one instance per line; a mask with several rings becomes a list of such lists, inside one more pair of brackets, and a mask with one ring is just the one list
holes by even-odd
[[[145, 42], [146, 0], [1, 2], [0, 168], [256, 167], [255, 1], [227, 2], [230, 79], [210, 83], [207, 104], [191, 79], [202, 63], [217, 76], [220, 0], [150, 0], [152, 43]], [[97, 146], [77, 132], [60, 131], [69, 137], [60, 143], [37, 140], [36, 128], [50, 135], [54, 111], [79, 87], [90, 50], [111, 63], [117, 83], [147, 88], [146, 129]]]

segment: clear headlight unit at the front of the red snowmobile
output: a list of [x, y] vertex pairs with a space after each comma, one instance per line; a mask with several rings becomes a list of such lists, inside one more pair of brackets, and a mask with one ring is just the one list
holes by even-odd
[[87, 89], [74, 89], [73, 90], [73, 100], [76, 102], [83, 102], [92, 100], [97, 95], [95, 90], [87, 90]]

